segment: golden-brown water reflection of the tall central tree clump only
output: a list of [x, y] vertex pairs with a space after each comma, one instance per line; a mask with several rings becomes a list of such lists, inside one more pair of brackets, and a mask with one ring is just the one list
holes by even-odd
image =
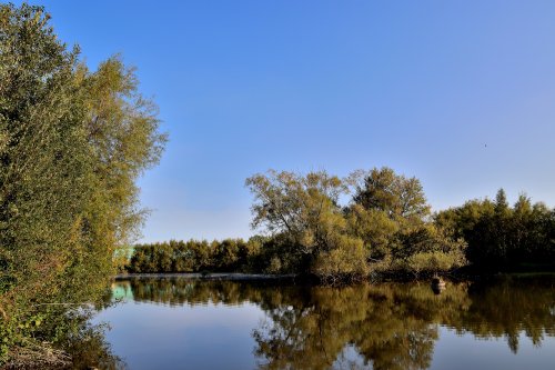
[[453, 296], [434, 296], [425, 284], [314, 288], [302, 307], [266, 311], [270, 323], [253, 333], [256, 354], [268, 369], [327, 369], [352, 344], [374, 369], [425, 369], [437, 339], [437, 308], [464, 303], [464, 294]]

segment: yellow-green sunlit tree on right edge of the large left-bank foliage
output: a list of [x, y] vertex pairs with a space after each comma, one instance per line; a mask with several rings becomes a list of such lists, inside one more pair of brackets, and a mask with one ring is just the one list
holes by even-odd
[[138, 233], [144, 211], [137, 208], [135, 180], [158, 163], [165, 134], [159, 133], [157, 107], [138, 92], [134, 69], [119, 56], [84, 77], [87, 138], [94, 159], [95, 209], [91, 219], [109, 243], [129, 242]]

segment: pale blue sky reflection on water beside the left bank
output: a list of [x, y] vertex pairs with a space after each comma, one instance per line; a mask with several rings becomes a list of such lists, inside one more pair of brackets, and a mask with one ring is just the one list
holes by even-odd
[[262, 319], [254, 304], [169, 307], [124, 302], [95, 318], [109, 322], [107, 340], [129, 369], [252, 369], [251, 330]]

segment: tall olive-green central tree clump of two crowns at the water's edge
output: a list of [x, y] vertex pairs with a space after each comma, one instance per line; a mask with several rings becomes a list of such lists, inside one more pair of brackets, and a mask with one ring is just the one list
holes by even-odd
[[[273, 249], [265, 252], [270, 272], [310, 272], [335, 281], [370, 270], [431, 272], [465, 263], [466, 243], [430, 222], [420, 181], [389, 168], [343, 180], [324, 171], [270, 171], [249, 178], [246, 186], [255, 198], [253, 227], [275, 241], [263, 248]], [[350, 189], [353, 199], [342, 208], [340, 197]]]

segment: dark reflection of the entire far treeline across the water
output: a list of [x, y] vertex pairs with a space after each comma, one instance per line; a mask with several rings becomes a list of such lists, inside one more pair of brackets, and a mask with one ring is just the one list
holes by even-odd
[[438, 326], [480, 338], [506, 337], [514, 352], [521, 333], [536, 346], [554, 337], [554, 280], [450, 283], [438, 296], [427, 283], [329, 288], [153, 279], [119, 284], [138, 301], [260, 306], [266, 320], [252, 334], [264, 369], [327, 369], [346, 348], [374, 369], [425, 369]]

